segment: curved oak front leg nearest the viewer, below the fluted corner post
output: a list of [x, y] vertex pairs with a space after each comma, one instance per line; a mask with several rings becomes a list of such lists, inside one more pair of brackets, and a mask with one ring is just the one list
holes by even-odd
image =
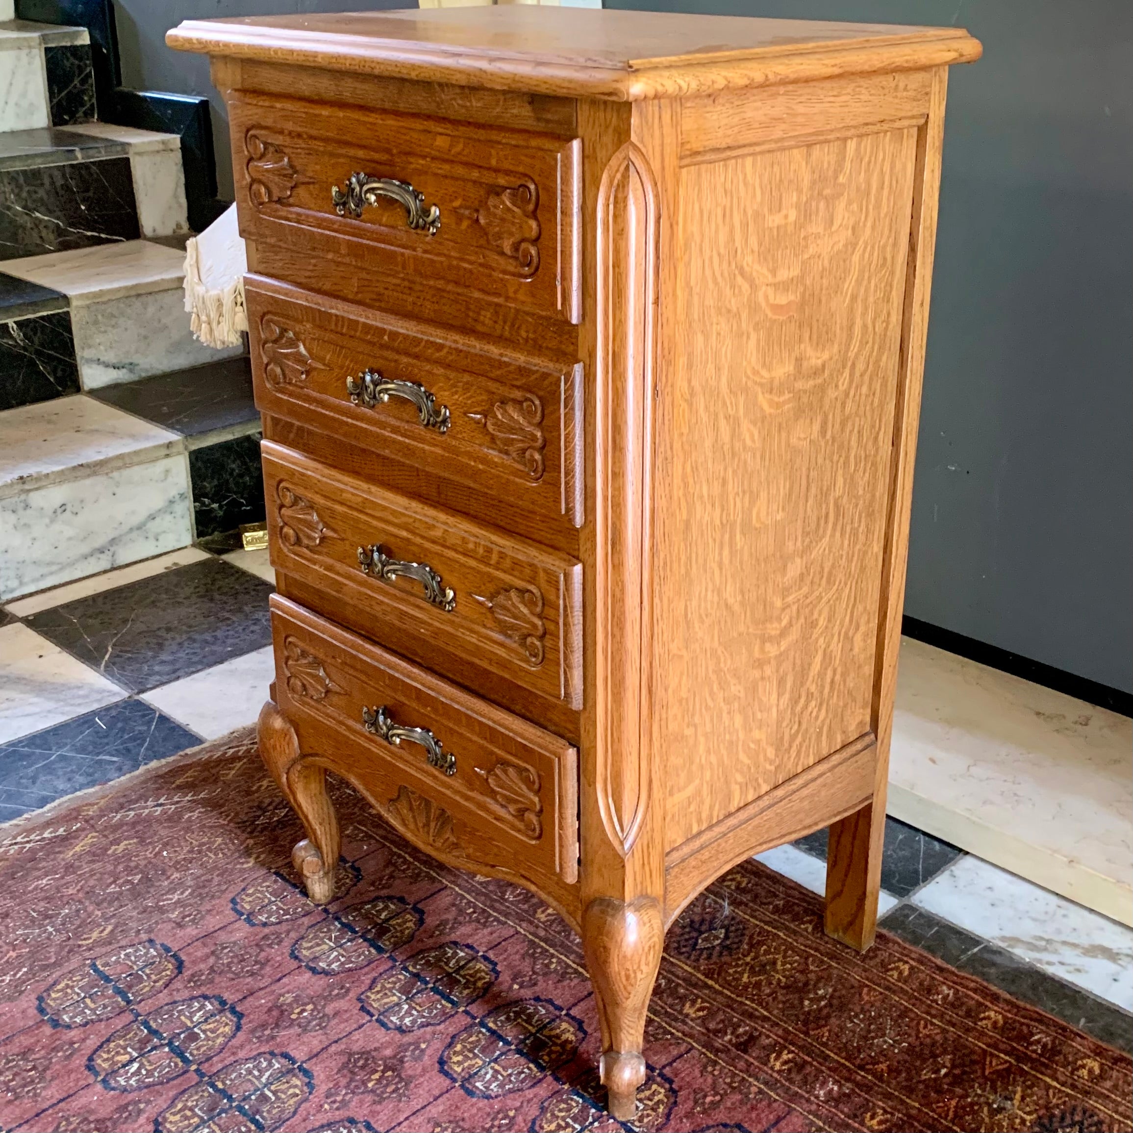
[[611, 1115], [622, 1122], [632, 1121], [645, 1081], [645, 1017], [664, 943], [654, 897], [597, 897], [582, 913], [582, 951], [602, 1024], [602, 1082]]

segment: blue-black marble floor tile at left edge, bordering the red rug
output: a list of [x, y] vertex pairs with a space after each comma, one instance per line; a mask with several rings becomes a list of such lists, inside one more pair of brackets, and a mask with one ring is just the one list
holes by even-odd
[[119, 700], [0, 744], [0, 823], [195, 748], [201, 738], [140, 700]]

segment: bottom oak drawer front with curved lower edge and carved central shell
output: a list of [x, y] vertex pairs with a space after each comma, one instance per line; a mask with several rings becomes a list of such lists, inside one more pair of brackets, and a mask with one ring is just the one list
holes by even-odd
[[273, 595], [275, 691], [305, 755], [442, 855], [578, 877], [578, 760], [565, 740]]

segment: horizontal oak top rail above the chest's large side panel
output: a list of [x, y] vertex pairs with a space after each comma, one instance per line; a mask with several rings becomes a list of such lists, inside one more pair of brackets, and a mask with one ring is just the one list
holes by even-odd
[[909, 71], [685, 99], [681, 161], [715, 162], [736, 151], [917, 126], [928, 113], [931, 86], [931, 73]]

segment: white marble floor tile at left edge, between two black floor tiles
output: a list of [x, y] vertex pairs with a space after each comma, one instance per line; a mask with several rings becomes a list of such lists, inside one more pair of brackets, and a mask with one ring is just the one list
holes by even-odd
[[0, 629], [0, 743], [125, 696], [117, 684], [26, 625]]

